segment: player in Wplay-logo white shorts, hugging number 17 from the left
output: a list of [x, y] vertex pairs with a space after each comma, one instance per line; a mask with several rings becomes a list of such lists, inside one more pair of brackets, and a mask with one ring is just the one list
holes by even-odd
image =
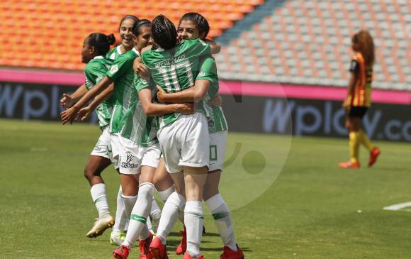
[[[133, 28], [133, 33], [138, 50], [149, 45], [151, 43], [150, 21], [138, 21]], [[113, 253], [116, 258], [127, 258], [130, 247], [138, 236], [140, 236], [140, 258], [150, 258], [148, 246], [152, 236], [148, 232], [146, 221], [152, 206], [152, 194], [154, 192], [152, 178], [158, 165], [160, 151], [157, 144], [157, 130], [152, 127], [155, 122], [154, 118], [147, 118], [142, 111], [142, 106], [137, 99], [137, 90], [133, 86], [131, 78], [133, 77], [134, 79], [133, 60], [138, 56], [137, 53], [132, 50], [119, 55], [113, 62], [113, 65], [111, 65], [110, 70], [108, 70], [106, 77], [101, 80], [101, 84], [96, 86], [96, 90], [89, 92], [91, 94], [86, 94], [76, 104], [77, 107], [73, 106], [72, 111], [62, 116], [64, 121], [70, 121], [76, 115], [81, 116], [81, 119], [83, 119], [89, 116], [96, 107], [95, 104], [98, 104], [102, 99], [113, 93], [115, 105], [110, 121], [111, 146], [113, 158], [120, 162], [119, 171], [123, 198], [125, 199], [125, 210], [130, 215], [130, 224], [125, 241]], [[108, 87], [111, 82], [114, 82], [114, 86]], [[84, 106], [86, 101], [95, 97], [103, 89], [106, 90], [99, 94], [88, 107], [81, 109], [81, 112], [77, 113], [79, 107]], [[150, 92], [150, 98], [151, 96], [152, 93]], [[160, 107], [156, 112], [162, 111], [159, 114], [168, 114], [181, 110], [193, 111], [192, 105], [158, 104], [158, 106]], [[137, 189], [138, 172], [141, 172], [140, 189]], [[139, 193], [138, 197], [137, 190]]]

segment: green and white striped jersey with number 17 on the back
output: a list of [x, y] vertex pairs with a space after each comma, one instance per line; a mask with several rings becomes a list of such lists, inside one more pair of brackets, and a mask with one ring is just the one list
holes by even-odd
[[[154, 83], [165, 92], [180, 92], [194, 85], [203, 55], [210, 55], [210, 45], [198, 39], [184, 40], [172, 50], [147, 50], [142, 53], [142, 62], [150, 70]], [[173, 123], [178, 116], [179, 113], [159, 116], [159, 127]]]

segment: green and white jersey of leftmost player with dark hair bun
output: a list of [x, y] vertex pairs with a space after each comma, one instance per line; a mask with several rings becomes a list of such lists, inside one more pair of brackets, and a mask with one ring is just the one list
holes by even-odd
[[[90, 60], [84, 68], [84, 74], [86, 75], [86, 88], [89, 90], [94, 87], [98, 82], [106, 76], [108, 67], [111, 65], [111, 61], [103, 56], [94, 57]], [[96, 108], [96, 114], [98, 117], [98, 126], [103, 128], [110, 123], [111, 111], [113, 108], [113, 98], [110, 97], [106, 101], [103, 101]]]

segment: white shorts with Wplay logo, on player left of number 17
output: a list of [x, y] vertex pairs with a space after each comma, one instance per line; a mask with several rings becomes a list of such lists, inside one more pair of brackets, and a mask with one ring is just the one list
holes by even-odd
[[[121, 174], [137, 175], [142, 165], [157, 167], [159, 165], [159, 145], [140, 147], [133, 140], [124, 138], [119, 133], [111, 134], [113, 160]], [[115, 165], [115, 167], [116, 167]]]

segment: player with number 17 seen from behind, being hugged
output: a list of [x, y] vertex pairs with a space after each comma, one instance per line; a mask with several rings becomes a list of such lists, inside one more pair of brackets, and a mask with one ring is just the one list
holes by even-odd
[[[177, 45], [174, 24], [161, 15], [153, 20], [152, 35], [157, 49], [142, 53], [142, 62], [150, 70], [154, 83], [166, 92], [179, 92], [192, 86], [193, 79], [198, 73], [199, 58], [202, 55], [218, 53], [220, 50], [220, 46], [215, 43], [208, 45], [201, 40], [186, 40]], [[140, 80], [138, 88], [142, 91], [150, 86]], [[167, 172], [171, 174], [176, 186], [176, 193], [171, 194], [164, 207], [174, 203], [181, 209], [186, 204], [184, 223], [187, 229], [188, 246], [184, 259], [202, 258], [203, 256], [200, 255], [203, 230], [201, 199], [209, 162], [207, 122], [204, 115], [198, 112], [191, 115], [166, 114], [159, 116], [158, 119], [159, 145], [164, 155]], [[164, 241], [160, 238], [154, 238], [150, 246], [154, 258], [167, 258], [162, 242]]]

